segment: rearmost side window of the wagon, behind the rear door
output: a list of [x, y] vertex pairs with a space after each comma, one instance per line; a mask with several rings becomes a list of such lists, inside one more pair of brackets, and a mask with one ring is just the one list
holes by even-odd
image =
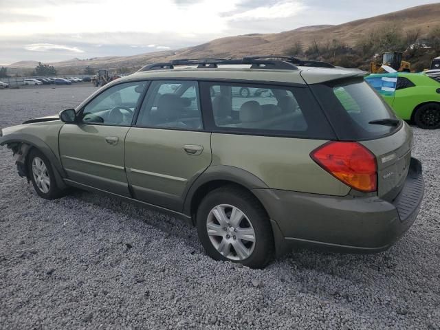
[[213, 131], [298, 137], [334, 137], [329, 124], [303, 87], [242, 83], [203, 83]]

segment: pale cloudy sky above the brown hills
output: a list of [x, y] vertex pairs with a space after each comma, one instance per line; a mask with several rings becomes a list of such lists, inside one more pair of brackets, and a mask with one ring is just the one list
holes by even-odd
[[340, 24], [430, 0], [0, 0], [0, 65], [174, 50]]

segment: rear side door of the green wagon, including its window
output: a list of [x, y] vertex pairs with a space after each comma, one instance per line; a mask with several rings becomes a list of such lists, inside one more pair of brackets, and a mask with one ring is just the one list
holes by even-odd
[[185, 192], [211, 162], [195, 81], [154, 80], [125, 139], [125, 166], [137, 199], [181, 210]]

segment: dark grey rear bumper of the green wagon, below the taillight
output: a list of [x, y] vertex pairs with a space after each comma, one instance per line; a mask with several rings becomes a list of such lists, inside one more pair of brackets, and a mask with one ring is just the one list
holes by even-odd
[[256, 189], [272, 219], [277, 254], [295, 245], [344, 252], [380, 252], [414, 223], [423, 199], [421, 163], [411, 159], [404, 188], [394, 201], [377, 196], [322, 196]]

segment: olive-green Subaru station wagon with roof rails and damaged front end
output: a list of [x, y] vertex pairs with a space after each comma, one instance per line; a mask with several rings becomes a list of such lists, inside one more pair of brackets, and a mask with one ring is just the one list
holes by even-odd
[[0, 135], [41, 197], [171, 212], [209, 256], [249, 267], [298, 245], [386, 250], [423, 197], [412, 131], [362, 74], [296, 58], [147, 65]]

